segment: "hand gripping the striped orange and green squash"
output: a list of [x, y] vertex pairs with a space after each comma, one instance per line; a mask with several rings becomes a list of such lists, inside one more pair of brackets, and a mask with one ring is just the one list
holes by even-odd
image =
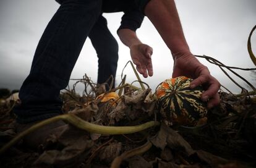
[[201, 64], [192, 54], [180, 56], [174, 59], [173, 78], [178, 76], [194, 78], [190, 88], [202, 85], [205, 90], [201, 96], [202, 101], [208, 101], [208, 109], [220, 103], [218, 90], [220, 83], [210, 75], [208, 68]]

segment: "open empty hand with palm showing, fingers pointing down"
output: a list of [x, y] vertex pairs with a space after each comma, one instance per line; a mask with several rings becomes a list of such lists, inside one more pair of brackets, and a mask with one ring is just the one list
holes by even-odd
[[147, 44], [134, 44], [130, 46], [130, 56], [132, 62], [136, 65], [137, 71], [143, 75], [144, 78], [153, 75], [153, 67], [151, 55], [153, 49]]

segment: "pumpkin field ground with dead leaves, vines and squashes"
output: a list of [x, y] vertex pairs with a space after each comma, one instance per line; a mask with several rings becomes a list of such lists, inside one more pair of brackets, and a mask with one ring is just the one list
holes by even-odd
[[[250, 36], [248, 51], [256, 65]], [[122, 82], [106, 91], [85, 74], [61, 92], [64, 114], [17, 133], [12, 112], [20, 103], [17, 91], [1, 89], [1, 167], [256, 167], [256, 88], [233, 70], [256, 69], [197, 57], [220, 67], [241, 93], [222, 86], [220, 104], [207, 109], [200, 100], [203, 86], [190, 89], [192, 79], [168, 78], [151, 90], [127, 62], [137, 76], [134, 82], [126, 83], [122, 74]], [[236, 83], [228, 70], [251, 91]], [[82, 95], [76, 93], [77, 84], [85, 87]], [[24, 136], [58, 120], [66, 122], [59, 136], [50, 135], [36, 150], [23, 144]]]

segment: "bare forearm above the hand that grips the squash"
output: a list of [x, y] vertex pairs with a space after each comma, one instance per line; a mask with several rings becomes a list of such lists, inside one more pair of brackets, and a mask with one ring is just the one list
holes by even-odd
[[173, 0], [151, 0], [145, 7], [145, 14], [174, 57], [191, 54]]

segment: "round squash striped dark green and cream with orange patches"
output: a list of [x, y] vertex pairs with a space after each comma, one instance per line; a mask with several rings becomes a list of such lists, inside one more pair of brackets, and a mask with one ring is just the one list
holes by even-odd
[[207, 119], [207, 104], [200, 99], [203, 88], [190, 89], [191, 81], [191, 78], [181, 76], [167, 79], [158, 86], [158, 107], [166, 124], [195, 126], [199, 120]]

